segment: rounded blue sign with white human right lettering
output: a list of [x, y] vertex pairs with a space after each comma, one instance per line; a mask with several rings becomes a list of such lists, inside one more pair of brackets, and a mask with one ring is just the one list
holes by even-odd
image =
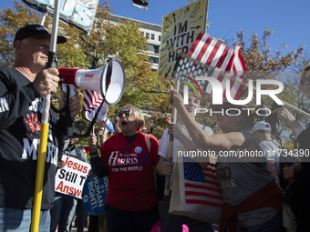
[[88, 176], [83, 187], [83, 206], [92, 215], [101, 215], [105, 210], [108, 192], [108, 177]]

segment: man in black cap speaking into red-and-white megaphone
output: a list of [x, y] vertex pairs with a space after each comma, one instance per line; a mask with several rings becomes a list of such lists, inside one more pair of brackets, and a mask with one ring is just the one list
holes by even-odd
[[[57, 68], [47, 68], [51, 35], [42, 25], [20, 28], [14, 39], [14, 67], [0, 67], [0, 231], [28, 231], [33, 207], [37, 150], [40, 143], [42, 96], [56, 93]], [[63, 36], [57, 43], [65, 43]], [[65, 105], [61, 92], [59, 105]], [[80, 110], [78, 95], [70, 98], [70, 116]], [[40, 231], [49, 231], [58, 150], [67, 134], [66, 118], [49, 111]]]

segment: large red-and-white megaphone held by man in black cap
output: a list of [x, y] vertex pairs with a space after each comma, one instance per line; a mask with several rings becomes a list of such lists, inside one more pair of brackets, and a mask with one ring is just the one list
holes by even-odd
[[118, 59], [109, 59], [97, 69], [58, 67], [61, 84], [86, 88], [100, 94], [109, 105], [119, 102], [124, 92], [125, 72]]

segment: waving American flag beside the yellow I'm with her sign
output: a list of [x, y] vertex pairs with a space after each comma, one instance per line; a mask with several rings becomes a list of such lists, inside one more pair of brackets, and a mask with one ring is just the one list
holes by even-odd
[[[191, 49], [187, 54], [189, 58], [181, 55], [174, 67], [173, 77], [187, 80], [188, 77], [195, 79], [197, 76], [212, 76], [217, 78], [223, 86], [223, 97], [226, 98], [225, 81], [229, 76], [233, 76], [243, 82], [245, 76], [245, 65], [240, 54], [240, 46], [229, 48], [217, 39], [208, 34], [201, 33], [197, 36]], [[208, 65], [206, 68], [202, 65]], [[226, 71], [225, 74], [221, 71]], [[233, 71], [233, 72], [231, 72]], [[206, 80], [196, 80], [198, 85], [206, 93], [212, 94], [212, 86]], [[231, 79], [231, 96], [238, 100], [243, 93], [244, 86], [238, 81]]]

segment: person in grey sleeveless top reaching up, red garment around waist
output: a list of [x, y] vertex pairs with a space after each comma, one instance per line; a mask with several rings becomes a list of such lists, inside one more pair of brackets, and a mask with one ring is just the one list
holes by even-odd
[[[244, 231], [282, 231], [283, 193], [250, 132], [253, 116], [247, 106], [234, 106], [226, 101], [210, 106], [222, 134], [206, 136], [188, 114], [181, 95], [172, 87], [170, 102], [178, 110], [195, 146], [218, 156], [216, 174], [227, 204], [223, 207], [219, 231], [227, 227], [235, 231], [237, 223]], [[209, 157], [195, 158], [195, 161], [204, 167]]]

